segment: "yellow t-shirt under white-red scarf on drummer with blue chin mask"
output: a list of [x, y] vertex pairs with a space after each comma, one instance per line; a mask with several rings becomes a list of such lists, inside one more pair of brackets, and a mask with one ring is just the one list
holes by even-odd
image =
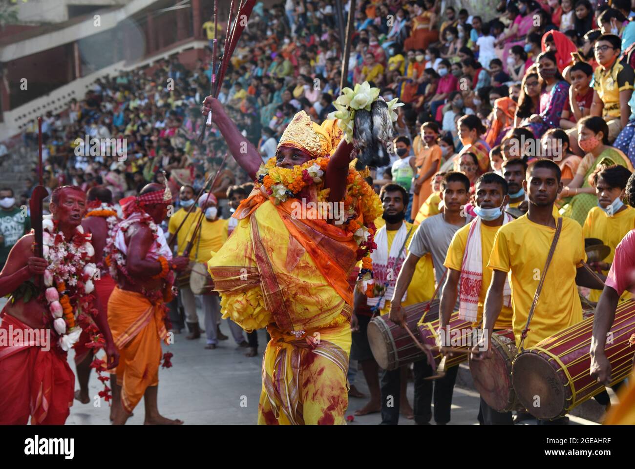
[[[461, 271], [461, 265], [463, 263], [463, 256], [465, 254], [465, 246], [467, 245], [467, 235], [470, 232], [470, 227], [474, 221], [471, 221], [464, 227], [460, 228], [450, 242], [448, 248], [448, 255], [445, 258], [443, 265], [453, 270]], [[478, 323], [483, 317], [483, 306], [485, 305], [485, 295], [487, 289], [490, 287], [492, 271], [487, 268], [487, 264], [490, 261], [491, 248], [494, 246], [494, 238], [500, 227], [488, 227], [484, 223], [481, 223], [481, 253], [483, 256], [483, 283], [481, 284], [481, 291], [478, 296], [478, 315], [476, 322]], [[495, 329], [511, 329], [512, 327], [512, 308], [503, 306], [498, 315], [498, 319], [494, 324]]]

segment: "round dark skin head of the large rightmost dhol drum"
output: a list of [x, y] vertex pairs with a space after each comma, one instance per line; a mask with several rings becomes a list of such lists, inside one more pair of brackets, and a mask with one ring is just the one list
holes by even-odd
[[516, 357], [512, 383], [518, 400], [535, 418], [551, 419], [563, 413], [565, 386], [556, 369], [537, 353], [524, 352]]

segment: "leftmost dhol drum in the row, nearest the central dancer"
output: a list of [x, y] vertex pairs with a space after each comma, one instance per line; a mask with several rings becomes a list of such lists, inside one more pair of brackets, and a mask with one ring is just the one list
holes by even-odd
[[[424, 301], [404, 307], [406, 323], [413, 334], [417, 334], [417, 322], [424, 315], [428, 303], [430, 303], [430, 309], [425, 317], [438, 318], [439, 300]], [[417, 347], [415, 341], [404, 329], [388, 319], [388, 315], [373, 317], [370, 320], [368, 343], [377, 364], [388, 371], [425, 359], [424, 351]]]

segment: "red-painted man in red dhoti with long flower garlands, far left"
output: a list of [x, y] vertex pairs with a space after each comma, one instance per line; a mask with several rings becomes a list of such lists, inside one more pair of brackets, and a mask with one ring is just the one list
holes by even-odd
[[[10, 338], [0, 344], [0, 425], [26, 425], [29, 416], [32, 425], [64, 425], [69, 416], [75, 376], [66, 355], [81, 333], [77, 308], [84, 314], [93, 308], [87, 272], [95, 250], [80, 226], [85, 205], [79, 187], [57, 188], [52, 217], [43, 222], [43, 258], [34, 256], [34, 234], [27, 234], [0, 272], [0, 294], [11, 294], [0, 314]], [[117, 366], [105, 315], [95, 323], [109, 366]]]

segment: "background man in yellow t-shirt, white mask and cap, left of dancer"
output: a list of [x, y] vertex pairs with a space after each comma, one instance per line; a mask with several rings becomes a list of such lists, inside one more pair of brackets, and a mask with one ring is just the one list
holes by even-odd
[[[229, 220], [218, 218], [218, 201], [213, 194], [203, 194], [198, 199], [198, 206], [203, 211], [204, 216], [201, 226], [196, 232], [196, 224], [190, 227], [187, 234], [187, 241], [192, 241], [192, 249], [190, 251], [190, 260], [196, 263], [204, 263], [211, 259], [211, 256], [222, 248], [227, 241], [227, 228]], [[207, 269], [206, 269], [207, 270]], [[200, 275], [192, 272], [191, 275]], [[209, 275], [209, 274], [207, 274]], [[205, 334], [207, 336], [208, 350], [213, 350], [218, 345], [218, 325], [220, 324], [220, 296], [215, 294], [201, 295], [203, 302], [203, 310], [205, 312]], [[234, 336], [234, 340], [241, 347], [248, 347], [247, 341], [243, 336], [243, 329], [229, 319], [229, 329]]]

